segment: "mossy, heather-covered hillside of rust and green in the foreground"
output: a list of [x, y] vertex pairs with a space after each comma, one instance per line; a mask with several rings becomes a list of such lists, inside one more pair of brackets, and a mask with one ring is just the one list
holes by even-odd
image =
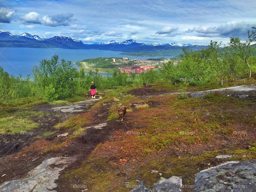
[[[228, 80], [223, 87], [246, 86], [188, 99], [179, 99], [179, 85], [165, 84], [100, 90], [95, 100], [24, 99], [1, 106], [0, 152], [6, 166], [0, 170], [5, 175], [0, 190], [6, 186], [3, 182], [25, 179], [32, 170], [34, 179], [28, 179], [30, 185], [23, 190], [50, 191], [57, 186], [66, 192], [153, 190], [154, 183], [175, 176], [182, 178], [182, 191], [192, 192], [199, 171], [226, 161], [250, 166], [246, 162], [256, 158], [255, 83], [255, 79]], [[187, 91], [192, 95], [209, 88], [188, 87]], [[238, 96], [245, 94], [245, 98]], [[122, 123], [117, 119], [119, 103], [128, 107]], [[3, 128], [6, 121], [7, 129]], [[223, 177], [230, 174], [238, 181], [232, 169]], [[43, 182], [37, 180], [42, 177]], [[143, 183], [137, 185], [136, 180]], [[15, 191], [14, 186], [10, 182], [8, 190]]]

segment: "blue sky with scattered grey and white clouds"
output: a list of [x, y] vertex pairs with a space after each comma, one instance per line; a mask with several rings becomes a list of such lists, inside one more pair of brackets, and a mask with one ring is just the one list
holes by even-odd
[[226, 44], [231, 36], [245, 41], [256, 27], [255, 0], [0, 0], [0, 7], [1, 30], [84, 43]]

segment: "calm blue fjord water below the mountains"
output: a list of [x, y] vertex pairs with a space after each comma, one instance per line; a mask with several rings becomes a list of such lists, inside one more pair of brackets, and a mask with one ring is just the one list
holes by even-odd
[[[10, 75], [18, 76], [19, 73], [23, 77], [32, 73], [32, 68], [39, 65], [42, 59], [50, 59], [54, 54], [59, 58], [67, 61], [78, 62], [83, 59], [92, 59], [97, 57], [128, 57], [131, 59], [149, 59], [159, 57], [134, 57], [119, 55], [118, 51], [103, 50], [85, 50], [85, 49], [43, 49], [43, 48], [16, 48], [16, 47], [0, 47], [0, 66]], [[76, 66], [76, 65], [75, 65]], [[77, 67], [77, 66], [76, 66]], [[102, 74], [107, 76], [107, 74]], [[111, 75], [111, 74], [109, 74]]]

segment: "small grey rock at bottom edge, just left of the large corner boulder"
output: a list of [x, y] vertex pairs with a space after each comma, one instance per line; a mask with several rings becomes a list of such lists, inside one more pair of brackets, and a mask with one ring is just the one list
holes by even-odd
[[169, 179], [159, 179], [154, 184], [155, 192], [180, 192], [182, 187], [181, 177], [172, 176]]

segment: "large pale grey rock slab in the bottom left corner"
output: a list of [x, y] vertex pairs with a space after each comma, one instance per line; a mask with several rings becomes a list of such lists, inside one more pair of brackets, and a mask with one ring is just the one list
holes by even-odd
[[63, 170], [70, 158], [55, 157], [46, 159], [35, 169], [27, 173], [24, 180], [13, 180], [0, 185], [1, 192], [56, 192], [54, 183], [59, 178], [59, 172]]

